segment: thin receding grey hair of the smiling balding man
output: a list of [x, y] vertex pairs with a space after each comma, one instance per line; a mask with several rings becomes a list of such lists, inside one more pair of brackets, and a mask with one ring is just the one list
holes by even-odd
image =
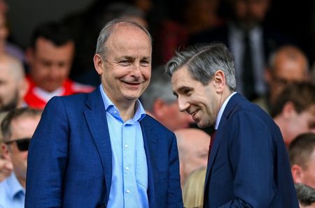
[[127, 20], [125, 18], [117, 18], [108, 22], [99, 33], [99, 37], [97, 38], [97, 47], [95, 50], [96, 54], [100, 54], [102, 57], [106, 57], [106, 54], [108, 52], [108, 49], [106, 48], [106, 41], [109, 40], [109, 36], [113, 34], [117, 25], [120, 23], [129, 24], [130, 26], [137, 27], [144, 31], [148, 35], [148, 38], [150, 39], [152, 45], [152, 36], [145, 27], [137, 22]]

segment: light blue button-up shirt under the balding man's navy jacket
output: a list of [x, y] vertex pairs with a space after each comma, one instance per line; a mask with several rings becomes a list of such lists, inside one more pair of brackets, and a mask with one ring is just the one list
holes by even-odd
[[113, 167], [107, 207], [148, 207], [148, 165], [139, 123], [146, 116], [144, 107], [137, 100], [134, 117], [124, 122], [102, 84], [100, 90], [109, 126]]

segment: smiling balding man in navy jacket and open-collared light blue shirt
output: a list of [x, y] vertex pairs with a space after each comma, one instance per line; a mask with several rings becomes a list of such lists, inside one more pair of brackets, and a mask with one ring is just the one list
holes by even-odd
[[183, 207], [174, 133], [144, 112], [148, 31], [113, 20], [97, 40], [102, 84], [48, 103], [29, 149], [25, 207]]

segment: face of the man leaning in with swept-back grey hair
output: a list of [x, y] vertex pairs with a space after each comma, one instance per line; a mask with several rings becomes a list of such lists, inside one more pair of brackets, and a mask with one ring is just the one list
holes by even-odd
[[174, 94], [178, 97], [179, 110], [190, 114], [200, 128], [214, 124], [219, 110], [214, 82], [204, 86], [191, 77], [186, 66], [172, 75]]

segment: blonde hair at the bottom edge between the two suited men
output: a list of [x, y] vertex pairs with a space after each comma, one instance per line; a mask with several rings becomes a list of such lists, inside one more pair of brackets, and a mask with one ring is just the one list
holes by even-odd
[[191, 172], [183, 186], [183, 204], [186, 208], [202, 207], [204, 203], [204, 181], [207, 168]]

